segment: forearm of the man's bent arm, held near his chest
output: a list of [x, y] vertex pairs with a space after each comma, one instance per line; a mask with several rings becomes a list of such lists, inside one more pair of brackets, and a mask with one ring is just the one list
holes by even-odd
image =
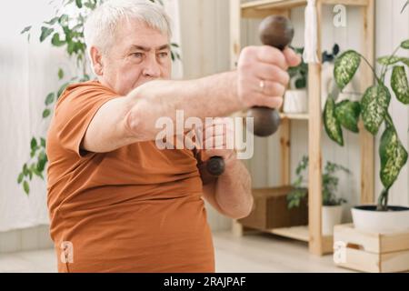
[[239, 160], [226, 165], [226, 170], [215, 182], [215, 201], [227, 216], [248, 216], [253, 207], [251, 177]]

